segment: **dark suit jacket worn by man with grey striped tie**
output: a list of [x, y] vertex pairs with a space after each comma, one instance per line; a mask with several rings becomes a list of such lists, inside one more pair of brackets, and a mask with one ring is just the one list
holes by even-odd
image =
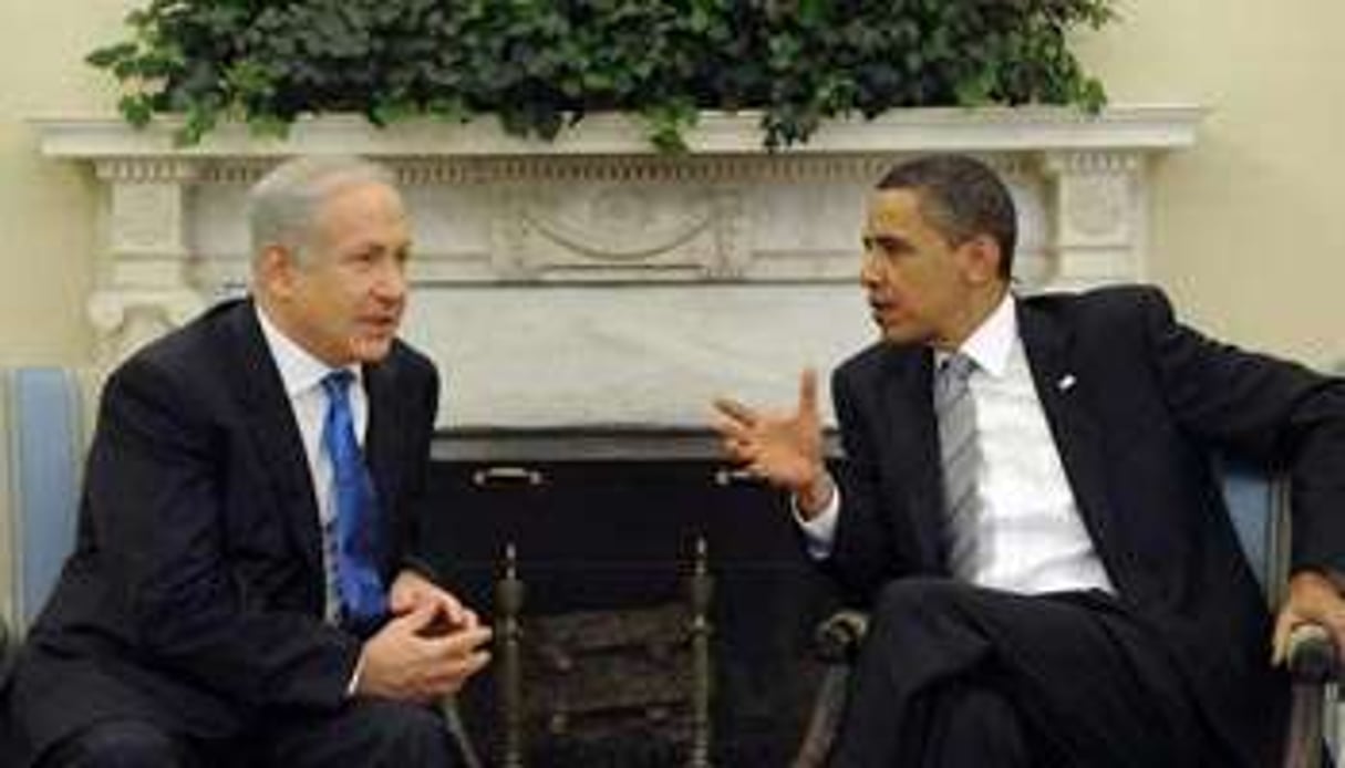
[[[1024, 299], [1018, 323], [1120, 600], [1158, 629], [1243, 763], [1274, 764], [1287, 685], [1210, 452], [1287, 468], [1294, 568], [1345, 570], [1345, 382], [1212, 342], [1150, 288]], [[880, 343], [833, 378], [846, 463], [827, 566], [861, 599], [948, 572], [931, 367], [925, 348]]]

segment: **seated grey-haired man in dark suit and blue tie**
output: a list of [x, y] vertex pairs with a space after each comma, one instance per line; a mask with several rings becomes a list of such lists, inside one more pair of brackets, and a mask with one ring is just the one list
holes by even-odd
[[417, 558], [438, 378], [395, 338], [401, 198], [311, 157], [249, 203], [252, 297], [104, 389], [75, 551], [13, 682], [22, 765], [455, 760], [426, 705], [490, 631]]

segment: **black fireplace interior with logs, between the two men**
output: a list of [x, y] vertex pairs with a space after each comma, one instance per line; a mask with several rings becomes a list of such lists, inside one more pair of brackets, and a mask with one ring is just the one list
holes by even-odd
[[[658, 648], [678, 647], [683, 636], [675, 617], [685, 613], [675, 604], [686, 604], [685, 582], [703, 538], [714, 578], [712, 761], [788, 764], [820, 671], [810, 656], [812, 628], [835, 599], [802, 553], [787, 500], [733, 473], [710, 433], [452, 430], [436, 440], [430, 494], [437, 510], [426, 531], [432, 560], [483, 619], [494, 615], [492, 590], [511, 543], [526, 585], [525, 642], [594, 628], [671, 635], [646, 643], [652, 662], [617, 651], [585, 662], [603, 668], [597, 687], [590, 681], [588, 693], [570, 694], [581, 698], [633, 701], [664, 685], [642, 670], [679, 666], [679, 655]], [[603, 646], [604, 639], [586, 643]], [[560, 695], [555, 681], [541, 678], [570, 675], [572, 650], [553, 648], [555, 663], [525, 667], [533, 670], [525, 699]], [[689, 674], [675, 673], [666, 686], [682, 685]], [[498, 761], [502, 724], [491, 675], [473, 681], [461, 703], [477, 749]], [[533, 724], [529, 765], [686, 764], [677, 706], [650, 705], [633, 720], [613, 712], [608, 722], [580, 722], [580, 709], [570, 707], [573, 718], [551, 714]], [[584, 717], [603, 720], [601, 713]]]

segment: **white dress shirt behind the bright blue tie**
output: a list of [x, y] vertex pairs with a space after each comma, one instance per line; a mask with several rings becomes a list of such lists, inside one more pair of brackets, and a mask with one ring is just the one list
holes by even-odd
[[[308, 475], [313, 483], [313, 498], [317, 500], [317, 525], [323, 542], [323, 573], [327, 577], [327, 597], [324, 613], [331, 623], [336, 621], [336, 535], [332, 525], [336, 521], [336, 506], [332, 499], [332, 460], [323, 448], [323, 422], [327, 418], [327, 393], [323, 391], [323, 378], [332, 367], [319, 360], [277, 328], [262, 308], [257, 307], [257, 320], [262, 336], [270, 350], [280, 379], [289, 395], [289, 408], [304, 440], [304, 455], [308, 457]], [[355, 438], [364, 445], [364, 432], [369, 428], [369, 398], [364, 395], [362, 371], [358, 364], [347, 366], [355, 379], [350, 386], [351, 417]]]

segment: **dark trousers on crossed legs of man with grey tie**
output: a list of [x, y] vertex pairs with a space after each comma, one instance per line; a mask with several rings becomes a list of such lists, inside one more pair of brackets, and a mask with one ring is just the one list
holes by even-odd
[[1186, 768], [1206, 746], [1161, 644], [1100, 593], [900, 580], [870, 619], [834, 764], [967, 764], [940, 763], [946, 733], [1011, 746], [987, 768]]

